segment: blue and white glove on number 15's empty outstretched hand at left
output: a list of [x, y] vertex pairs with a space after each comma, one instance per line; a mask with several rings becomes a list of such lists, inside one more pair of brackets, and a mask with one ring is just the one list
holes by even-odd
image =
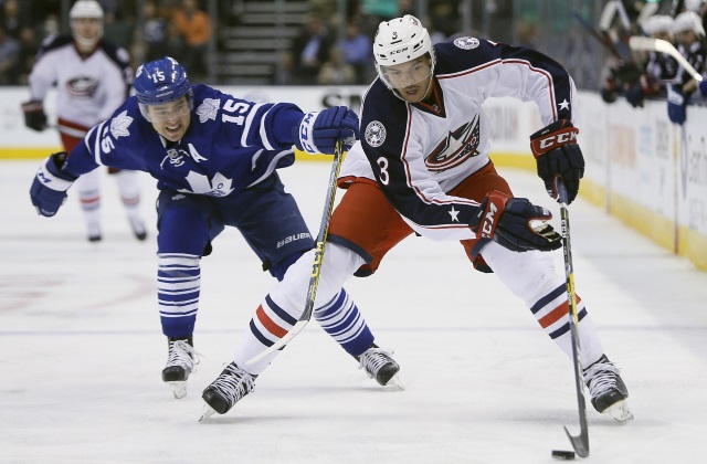
[[66, 151], [53, 154], [40, 166], [30, 188], [30, 198], [36, 212], [51, 218], [66, 201], [66, 190], [76, 180], [75, 176], [62, 172]]

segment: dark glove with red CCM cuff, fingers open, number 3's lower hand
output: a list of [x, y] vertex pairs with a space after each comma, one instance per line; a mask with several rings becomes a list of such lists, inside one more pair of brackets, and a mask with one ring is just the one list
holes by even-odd
[[552, 219], [549, 210], [536, 207], [528, 199], [510, 198], [494, 190], [486, 194], [469, 226], [477, 238], [492, 239], [510, 251], [552, 251], [562, 246], [560, 234], [550, 224], [536, 228], [530, 223], [549, 219]]

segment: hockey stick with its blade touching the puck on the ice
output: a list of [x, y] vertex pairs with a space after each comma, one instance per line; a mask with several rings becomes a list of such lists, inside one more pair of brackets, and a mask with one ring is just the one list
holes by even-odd
[[580, 457], [589, 456], [589, 429], [587, 425], [587, 403], [584, 401], [584, 376], [582, 375], [582, 360], [579, 344], [579, 317], [577, 315], [577, 294], [574, 293], [574, 270], [572, 267], [572, 249], [570, 244], [570, 217], [567, 209], [567, 188], [558, 182], [560, 203], [560, 221], [562, 228], [562, 251], [564, 255], [564, 275], [567, 277], [567, 302], [570, 318], [570, 338], [572, 340], [572, 363], [574, 365], [574, 383], [577, 387], [577, 405], [579, 407], [580, 433], [573, 436], [567, 426], [564, 433], [570, 439], [574, 452]]

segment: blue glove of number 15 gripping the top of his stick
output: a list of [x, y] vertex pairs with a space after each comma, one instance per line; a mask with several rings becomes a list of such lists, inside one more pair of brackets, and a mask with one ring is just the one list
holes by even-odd
[[307, 113], [298, 127], [293, 127], [295, 146], [308, 154], [334, 155], [338, 139], [348, 150], [359, 136], [358, 116], [346, 106], [335, 106], [321, 112]]

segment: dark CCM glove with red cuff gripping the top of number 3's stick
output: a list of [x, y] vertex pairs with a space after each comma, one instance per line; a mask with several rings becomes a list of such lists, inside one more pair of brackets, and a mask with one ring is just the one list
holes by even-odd
[[567, 187], [570, 204], [579, 192], [579, 180], [584, 176], [584, 157], [577, 145], [579, 129], [566, 119], [559, 119], [530, 136], [530, 149], [538, 164], [538, 176], [548, 194], [557, 199], [557, 182]]

